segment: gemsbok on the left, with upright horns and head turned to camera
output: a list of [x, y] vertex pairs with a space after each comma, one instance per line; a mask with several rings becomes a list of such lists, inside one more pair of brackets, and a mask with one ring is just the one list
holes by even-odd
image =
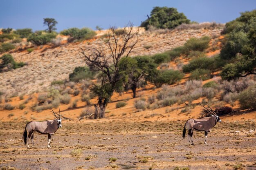
[[58, 108], [58, 110], [59, 110], [59, 115], [58, 115], [59, 118], [56, 116], [56, 114], [52, 110], [56, 119], [54, 117], [54, 120], [30, 121], [29, 123], [26, 124], [22, 140], [24, 140], [25, 145], [27, 144], [27, 148], [29, 148], [29, 138], [31, 138], [32, 144], [35, 145], [33, 141], [35, 131], [43, 135], [48, 135], [48, 148], [51, 148], [50, 146], [51, 136], [54, 135], [54, 133], [56, 132], [56, 130], [58, 130], [58, 128], [61, 128], [60, 107]]

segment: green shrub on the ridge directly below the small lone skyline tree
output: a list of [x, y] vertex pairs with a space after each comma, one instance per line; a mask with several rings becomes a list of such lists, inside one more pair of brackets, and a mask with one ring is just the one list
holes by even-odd
[[51, 42], [52, 39], [54, 39], [55, 37], [56, 33], [45, 33], [43, 31], [38, 31], [36, 33], [32, 33], [31, 35], [29, 35], [27, 41], [32, 42], [36, 45], [44, 45], [48, 42]]

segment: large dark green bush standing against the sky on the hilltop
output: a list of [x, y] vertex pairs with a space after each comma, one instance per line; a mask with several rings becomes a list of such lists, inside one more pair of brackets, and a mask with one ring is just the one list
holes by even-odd
[[154, 7], [150, 17], [141, 23], [141, 27], [145, 27], [146, 30], [150, 26], [158, 29], [174, 29], [182, 23], [189, 24], [190, 20], [184, 13], [179, 13], [176, 8]]

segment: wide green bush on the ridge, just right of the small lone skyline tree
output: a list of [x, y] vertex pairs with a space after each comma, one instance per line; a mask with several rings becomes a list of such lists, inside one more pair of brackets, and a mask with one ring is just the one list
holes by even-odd
[[92, 29], [89, 28], [70, 28], [70, 29], [65, 29], [61, 31], [61, 35], [69, 35], [70, 36], [70, 41], [73, 40], [88, 40], [93, 38], [96, 33]]

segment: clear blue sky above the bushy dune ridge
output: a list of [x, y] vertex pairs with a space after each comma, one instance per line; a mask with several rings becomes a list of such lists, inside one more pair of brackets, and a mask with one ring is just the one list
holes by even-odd
[[156, 6], [175, 7], [191, 21], [225, 23], [256, 9], [256, 0], [1, 0], [0, 28], [43, 30], [43, 18], [55, 18], [57, 31], [139, 26]]

